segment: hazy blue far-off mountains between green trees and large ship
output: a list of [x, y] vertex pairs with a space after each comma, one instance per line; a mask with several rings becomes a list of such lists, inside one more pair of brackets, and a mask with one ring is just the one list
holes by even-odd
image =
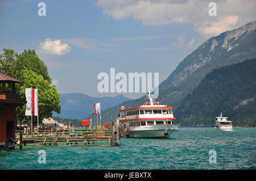
[[61, 113], [57, 114], [54, 112], [53, 116], [70, 119], [83, 119], [93, 112], [94, 103], [101, 103], [101, 111], [103, 111], [126, 100], [130, 99], [125, 98], [123, 95], [117, 95], [114, 97], [91, 97], [80, 93], [60, 94]]

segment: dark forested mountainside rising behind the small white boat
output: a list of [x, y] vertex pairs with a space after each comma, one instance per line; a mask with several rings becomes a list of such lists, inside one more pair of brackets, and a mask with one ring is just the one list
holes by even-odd
[[224, 113], [234, 125], [255, 127], [256, 58], [208, 73], [176, 109], [181, 125], [210, 124]]

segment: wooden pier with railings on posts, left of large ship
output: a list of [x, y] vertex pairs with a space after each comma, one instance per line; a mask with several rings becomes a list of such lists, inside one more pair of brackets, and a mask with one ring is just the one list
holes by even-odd
[[[115, 130], [115, 129], [113, 129]], [[22, 139], [20, 139], [20, 133]], [[119, 136], [110, 129], [68, 129], [63, 131], [39, 130], [34, 132], [16, 131], [18, 145], [27, 146], [71, 146], [71, 145], [100, 145], [119, 146], [115, 141]], [[19, 141], [20, 140], [20, 141]], [[21, 142], [21, 144], [20, 144]], [[117, 144], [118, 143], [118, 144]]]

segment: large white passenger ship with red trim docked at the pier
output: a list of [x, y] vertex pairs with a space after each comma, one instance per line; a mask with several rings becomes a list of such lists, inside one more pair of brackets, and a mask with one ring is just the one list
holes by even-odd
[[172, 132], [178, 131], [172, 107], [160, 105], [151, 96], [149, 92], [147, 99], [150, 101], [140, 107], [126, 109], [122, 106], [119, 110], [119, 122], [129, 123], [130, 137], [168, 138]]

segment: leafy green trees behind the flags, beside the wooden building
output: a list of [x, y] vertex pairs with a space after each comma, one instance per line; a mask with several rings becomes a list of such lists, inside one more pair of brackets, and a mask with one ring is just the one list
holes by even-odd
[[[24, 82], [16, 83], [18, 98], [26, 100], [26, 88], [38, 89], [40, 122], [44, 117], [52, 116], [52, 111], [60, 113], [60, 94], [56, 87], [51, 85], [52, 79], [49, 77], [47, 66], [40, 60], [35, 50], [24, 50], [20, 54], [12, 49], [4, 50], [5, 52], [0, 55], [0, 71]], [[26, 105], [17, 108], [17, 118], [28, 122], [25, 110]]]

